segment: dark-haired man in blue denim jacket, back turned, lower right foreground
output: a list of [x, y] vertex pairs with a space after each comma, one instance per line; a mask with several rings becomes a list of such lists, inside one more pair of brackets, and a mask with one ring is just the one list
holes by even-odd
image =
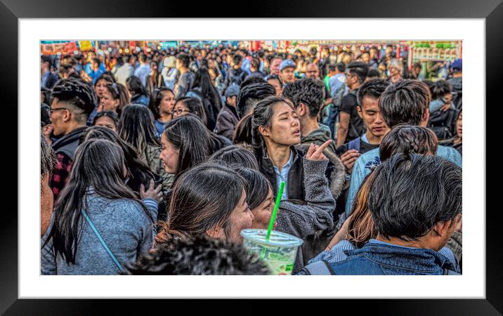
[[377, 237], [331, 263], [333, 273], [458, 275], [438, 251], [462, 212], [462, 169], [441, 157], [396, 154], [374, 173], [368, 207]]

